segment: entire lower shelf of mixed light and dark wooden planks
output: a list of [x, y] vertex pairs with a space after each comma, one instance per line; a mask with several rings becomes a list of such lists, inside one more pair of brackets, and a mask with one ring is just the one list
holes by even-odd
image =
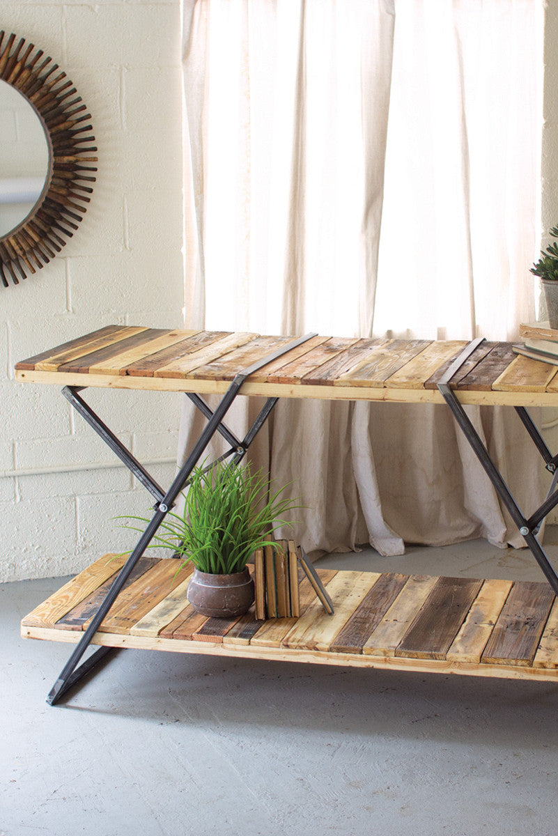
[[[77, 643], [124, 563], [106, 554], [22, 620], [22, 635]], [[191, 567], [141, 558], [93, 643], [324, 665], [558, 679], [558, 602], [545, 583], [318, 570], [335, 612], [301, 579], [298, 619], [207, 619]]]

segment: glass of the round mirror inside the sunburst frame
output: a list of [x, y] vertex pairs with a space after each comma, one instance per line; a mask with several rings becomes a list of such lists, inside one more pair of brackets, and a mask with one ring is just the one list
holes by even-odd
[[47, 135], [36, 110], [0, 80], [0, 238], [38, 203], [49, 161]]

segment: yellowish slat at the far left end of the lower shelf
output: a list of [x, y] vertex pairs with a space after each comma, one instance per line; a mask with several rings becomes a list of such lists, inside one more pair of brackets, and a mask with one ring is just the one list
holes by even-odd
[[87, 598], [104, 581], [110, 578], [124, 564], [125, 558], [115, 554], [104, 554], [72, 580], [68, 580], [58, 592], [50, 595], [43, 604], [39, 604], [25, 616], [22, 624], [26, 627], [46, 627], [56, 624], [76, 604]]

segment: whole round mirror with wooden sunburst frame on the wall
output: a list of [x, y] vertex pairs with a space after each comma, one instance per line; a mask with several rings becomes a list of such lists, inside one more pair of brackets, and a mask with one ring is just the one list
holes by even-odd
[[74, 235], [93, 191], [97, 148], [87, 108], [58, 64], [0, 31], [0, 282], [48, 264]]

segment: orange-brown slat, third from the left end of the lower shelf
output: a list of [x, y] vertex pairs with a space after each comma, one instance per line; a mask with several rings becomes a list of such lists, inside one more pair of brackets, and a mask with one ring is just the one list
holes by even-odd
[[174, 558], [160, 560], [128, 589], [123, 590], [99, 627], [102, 633], [129, 633], [131, 627], [185, 580], [190, 571]]

